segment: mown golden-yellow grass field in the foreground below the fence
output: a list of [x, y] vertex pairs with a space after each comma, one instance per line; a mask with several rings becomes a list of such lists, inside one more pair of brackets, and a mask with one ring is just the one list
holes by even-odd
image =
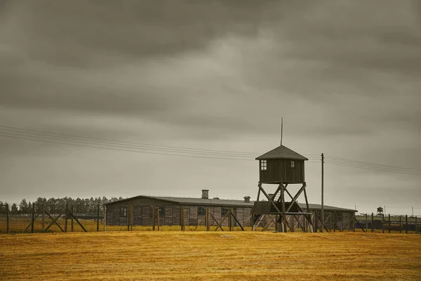
[[0, 280], [421, 280], [420, 235], [44, 233], [0, 249]]

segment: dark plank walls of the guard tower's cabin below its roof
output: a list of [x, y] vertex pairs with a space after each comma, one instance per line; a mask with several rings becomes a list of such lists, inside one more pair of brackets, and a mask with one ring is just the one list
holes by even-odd
[[[260, 160], [262, 161], [262, 160]], [[304, 160], [290, 159], [267, 159], [267, 169], [260, 171], [261, 183], [304, 183], [305, 163]], [[294, 166], [291, 167], [291, 161]]]

